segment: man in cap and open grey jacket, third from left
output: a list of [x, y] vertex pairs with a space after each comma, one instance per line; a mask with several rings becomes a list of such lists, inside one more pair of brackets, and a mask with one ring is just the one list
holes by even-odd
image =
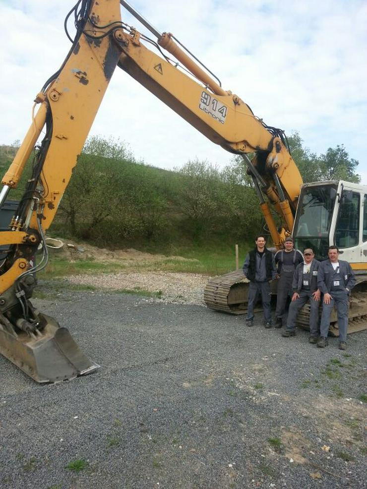
[[296, 335], [296, 319], [302, 306], [309, 301], [309, 343], [317, 343], [318, 336], [318, 309], [320, 305], [320, 289], [317, 287], [317, 274], [320, 262], [314, 259], [315, 255], [311, 248], [304, 251], [305, 261], [300, 263], [293, 277], [293, 296], [289, 306], [287, 329], [282, 336]]

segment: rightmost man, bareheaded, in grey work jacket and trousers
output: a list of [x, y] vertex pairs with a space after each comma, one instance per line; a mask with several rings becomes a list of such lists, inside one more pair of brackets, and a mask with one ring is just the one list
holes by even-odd
[[329, 246], [328, 260], [322, 261], [318, 270], [317, 285], [323, 293], [319, 348], [327, 345], [330, 314], [336, 306], [339, 327], [339, 350], [347, 349], [348, 298], [356, 285], [356, 277], [347, 261], [339, 260], [337, 246]]

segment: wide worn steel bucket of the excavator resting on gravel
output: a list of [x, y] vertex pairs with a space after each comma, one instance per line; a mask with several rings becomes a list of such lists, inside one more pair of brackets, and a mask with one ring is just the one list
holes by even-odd
[[60, 382], [92, 373], [99, 365], [91, 362], [69, 331], [46, 314], [45, 327], [29, 336], [0, 323], [0, 353], [36, 382]]

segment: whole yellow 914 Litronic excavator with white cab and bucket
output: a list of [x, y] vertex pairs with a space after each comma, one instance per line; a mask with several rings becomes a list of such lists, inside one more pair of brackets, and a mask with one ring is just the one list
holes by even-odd
[[[123, 22], [121, 5], [153, 37]], [[65, 26], [72, 17], [73, 39], [66, 29], [70, 50], [36, 95], [31, 126], [2, 179], [0, 207], [9, 190], [17, 186], [33, 152], [31, 177], [9, 229], [0, 232], [1, 249], [6, 249], [0, 264], [2, 355], [37, 382], [70, 379], [98, 368], [80, 351], [68, 330], [38, 311], [30, 298], [35, 274], [48, 260], [45, 232], [117, 66], [212, 142], [243, 156], [275, 247], [281, 247], [293, 229], [296, 245], [312, 245], [318, 256], [325, 254], [327, 245], [336, 243], [343, 257], [353, 263], [358, 287], [364, 287], [367, 187], [326, 182], [304, 185], [301, 190], [302, 178], [283, 131], [256, 117], [172, 34], [158, 32], [126, 1], [78, 0]], [[255, 154], [251, 161], [248, 153]], [[273, 210], [283, 223], [280, 229]], [[41, 257], [35, 264], [38, 248]], [[228, 312], [243, 310], [246, 284], [238, 282], [231, 274], [211, 281], [205, 291], [207, 305]], [[367, 308], [362, 309], [366, 314]]]

